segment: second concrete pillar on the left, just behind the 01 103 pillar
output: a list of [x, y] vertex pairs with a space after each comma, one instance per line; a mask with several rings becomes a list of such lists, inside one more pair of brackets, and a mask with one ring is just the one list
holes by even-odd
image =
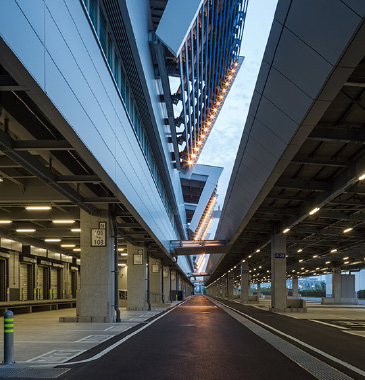
[[143, 246], [127, 243], [127, 310], [147, 310], [147, 253]]

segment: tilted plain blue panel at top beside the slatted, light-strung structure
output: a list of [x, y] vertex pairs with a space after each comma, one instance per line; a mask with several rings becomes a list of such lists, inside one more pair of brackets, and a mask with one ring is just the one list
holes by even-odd
[[169, 0], [161, 17], [156, 34], [175, 57], [178, 57], [184, 41], [204, 0]]

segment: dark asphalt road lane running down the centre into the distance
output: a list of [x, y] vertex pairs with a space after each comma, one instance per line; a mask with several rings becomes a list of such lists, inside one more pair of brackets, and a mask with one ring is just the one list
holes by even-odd
[[[74, 361], [75, 359], [73, 359]], [[314, 379], [221, 308], [195, 296], [61, 379]]]

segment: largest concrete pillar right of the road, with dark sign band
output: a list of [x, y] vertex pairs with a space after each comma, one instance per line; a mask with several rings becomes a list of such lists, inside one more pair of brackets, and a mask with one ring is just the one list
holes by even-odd
[[271, 241], [271, 309], [286, 308], [286, 236], [273, 235]]

